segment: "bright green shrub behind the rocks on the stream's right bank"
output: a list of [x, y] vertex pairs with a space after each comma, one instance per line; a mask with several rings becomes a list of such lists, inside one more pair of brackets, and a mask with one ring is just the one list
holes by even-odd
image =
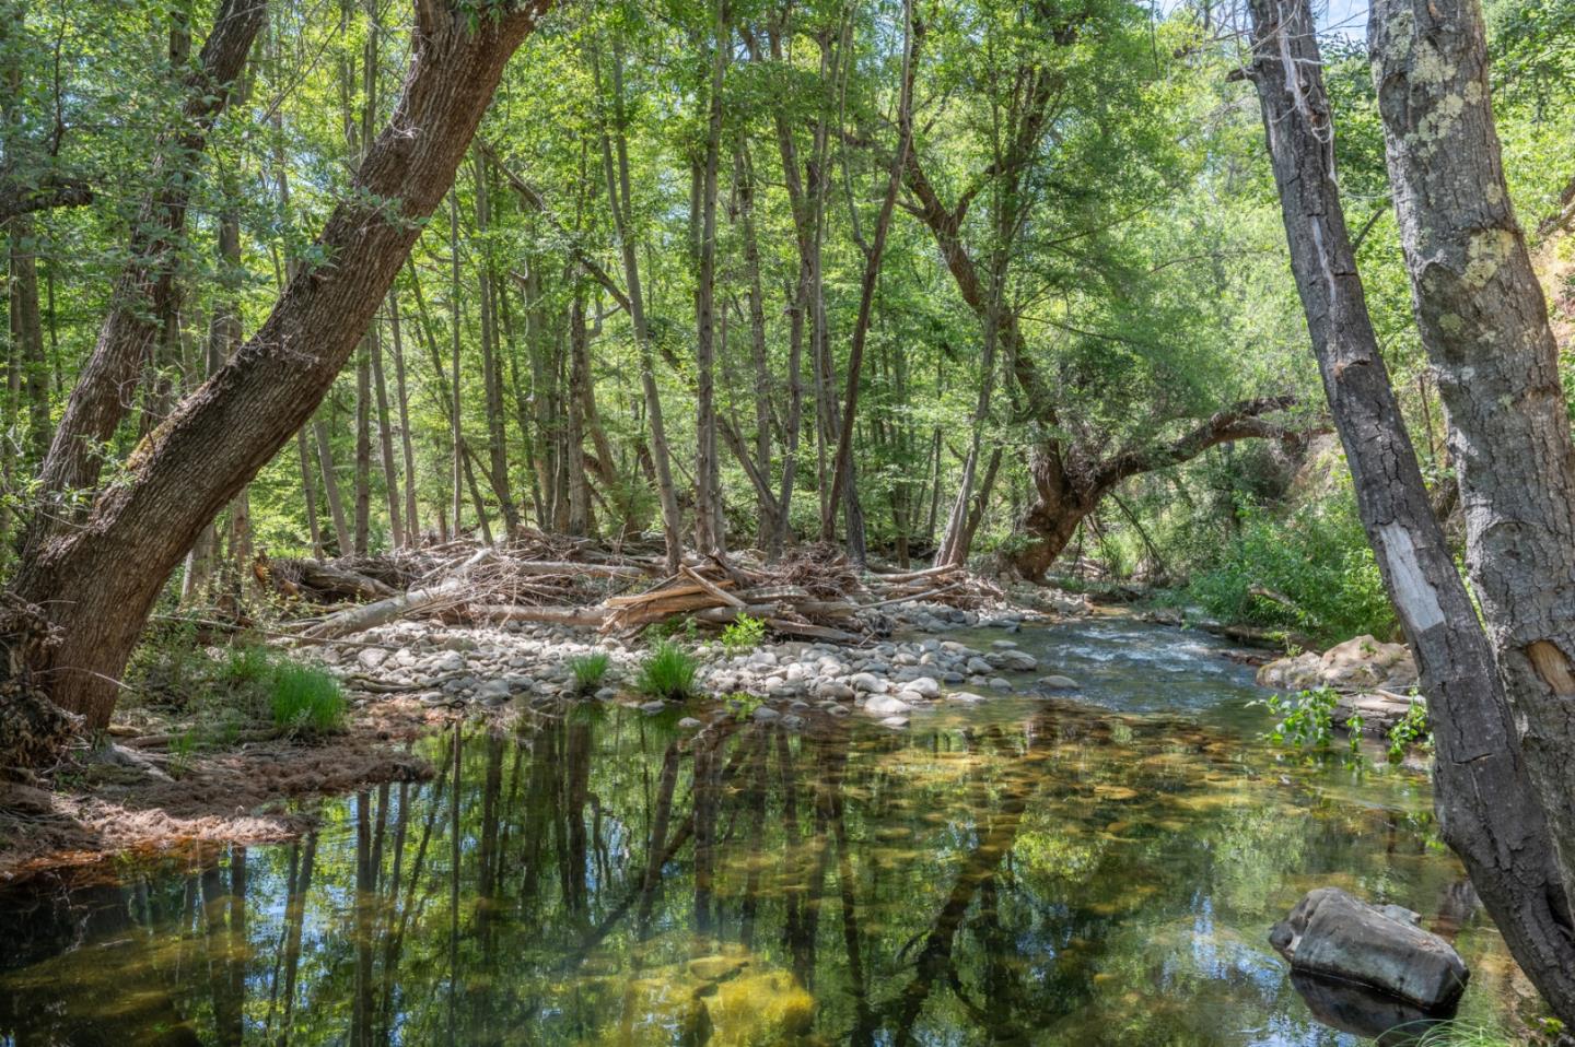
[[1240, 535], [1189, 594], [1227, 622], [1280, 627], [1336, 644], [1361, 633], [1395, 634], [1378, 562], [1348, 494], [1284, 520], [1244, 509]]

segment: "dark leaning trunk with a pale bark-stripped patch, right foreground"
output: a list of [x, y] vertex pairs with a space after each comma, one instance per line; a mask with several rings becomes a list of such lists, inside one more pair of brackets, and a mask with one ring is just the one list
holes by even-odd
[[[1575, 942], [1551, 841], [1512, 720], [1432, 510], [1367, 315], [1334, 173], [1332, 123], [1307, 0], [1252, 0], [1255, 61], [1292, 271], [1356, 502], [1429, 697], [1444, 838], [1520, 965], [1575, 1017]], [[1287, 66], [1293, 69], [1287, 76]]]

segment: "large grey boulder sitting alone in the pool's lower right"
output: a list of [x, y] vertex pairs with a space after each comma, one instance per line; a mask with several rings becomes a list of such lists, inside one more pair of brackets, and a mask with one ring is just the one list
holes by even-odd
[[1425, 1011], [1449, 1008], [1471, 976], [1455, 949], [1399, 905], [1320, 886], [1274, 924], [1269, 945], [1293, 970], [1378, 989]]

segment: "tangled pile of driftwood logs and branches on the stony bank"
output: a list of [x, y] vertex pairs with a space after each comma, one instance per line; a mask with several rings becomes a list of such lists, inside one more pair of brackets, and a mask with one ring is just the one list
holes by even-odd
[[865, 611], [910, 601], [976, 608], [1002, 597], [961, 567], [868, 573], [835, 546], [808, 545], [764, 564], [750, 554], [690, 556], [668, 573], [662, 556], [561, 535], [507, 546], [446, 543], [334, 560], [258, 560], [280, 595], [354, 606], [298, 620], [301, 634], [332, 639], [405, 617], [581, 625], [630, 636], [657, 622], [721, 627], [762, 619], [781, 636], [858, 642]]

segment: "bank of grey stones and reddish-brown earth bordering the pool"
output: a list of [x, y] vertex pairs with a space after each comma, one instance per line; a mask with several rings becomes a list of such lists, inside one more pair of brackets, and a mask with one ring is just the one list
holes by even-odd
[[[1062, 612], [1079, 608], [1079, 600], [1060, 601]], [[698, 661], [696, 693], [718, 699], [687, 705], [695, 715], [680, 726], [702, 731], [750, 716], [805, 731], [860, 713], [902, 729], [909, 710], [925, 702], [983, 701], [964, 686], [1051, 693], [1073, 683], [1032, 679], [1035, 660], [1005, 639], [1046, 611], [1016, 601], [976, 611], [914, 603], [879, 614], [884, 639], [860, 646], [783, 641], [728, 650], [715, 634], [680, 636]], [[945, 638], [991, 627], [1003, 639], [983, 649]], [[581, 691], [570, 663], [592, 650], [610, 655], [610, 669]], [[232, 724], [219, 734], [194, 726], [189, 713], [123, 702], [113, 745], [82, 751], [35, 784], [0, 782], [0, 882], [66, 866], [109, 868], [128, 853], [290, 839], [315, 823], [315, 798], [430, 778], [419, 743], [457, 718], [502, 726], [567, 701], [665, 708], [636, 694], [644, 649], [591, 628], [402, 620], [291, 657], [340, 680], [350, 699], [343, 731], [302, 740]], [[194, 737], [202, 742], [192, 745]]]

